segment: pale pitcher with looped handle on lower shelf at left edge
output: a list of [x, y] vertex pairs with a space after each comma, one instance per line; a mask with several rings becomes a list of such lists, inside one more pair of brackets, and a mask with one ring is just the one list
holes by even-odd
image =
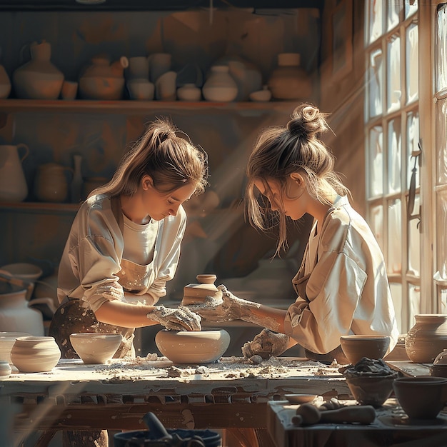
[[[19, 156], [19, 149], [25, 149], [24, 155]], [[0, 200], [21, 202], [28, 195], [28, 186], [21, 162], [29, 154], [26, 144], [0, 146]]]

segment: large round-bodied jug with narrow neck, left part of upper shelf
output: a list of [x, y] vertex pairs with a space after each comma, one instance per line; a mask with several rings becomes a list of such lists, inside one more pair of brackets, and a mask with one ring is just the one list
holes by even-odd
[[29, 46], [31, 60], [12, 74], [14, 91], [23, 99], [58, 99], [64, 74], [51, 62], [51, 44], [41, 41]]

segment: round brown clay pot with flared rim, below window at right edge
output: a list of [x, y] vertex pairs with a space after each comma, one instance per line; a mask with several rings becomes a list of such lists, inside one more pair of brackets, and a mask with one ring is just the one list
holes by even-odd
[[447, 315], [421, 313], [405, 338], [408, 358], [416, 363], [433, 363], [447, 346]]

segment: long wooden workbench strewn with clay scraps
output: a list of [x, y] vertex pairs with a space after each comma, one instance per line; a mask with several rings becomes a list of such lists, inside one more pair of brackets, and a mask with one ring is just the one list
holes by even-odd
[[199, 367], [176, 367], [166, 358], [90, 366], [61, 360], [49, 373], [0, 378], [1, 405], [8, 407], [2, 417], [13, 415], [8, 447], [38, 430], [46, 433], [37, 446], [46, 446], [56, 430], [145, 429], [141, 418], [148, 411], [166, 428], [266, 430], [266, 403], [286, 393], [347, 397], [349, 389], [338, 367], [305, 358], [253, 365], [231, 357]]

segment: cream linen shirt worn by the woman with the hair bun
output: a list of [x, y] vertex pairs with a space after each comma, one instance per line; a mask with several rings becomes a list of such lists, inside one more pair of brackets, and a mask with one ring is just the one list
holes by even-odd
[[303, 263], [293, 282], [308, 275], [306, 297], [287, 311], [286, 333], [314, 353], [328, 353], [348, 333], [388, 335], [388, 352], [398, 328], [383, 254], [366, 221], [338, 197], [321, 233], [309, 236]]

